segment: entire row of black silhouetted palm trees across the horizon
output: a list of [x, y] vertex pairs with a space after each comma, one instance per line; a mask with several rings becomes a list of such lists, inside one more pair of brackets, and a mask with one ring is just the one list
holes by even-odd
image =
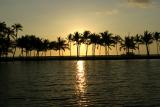
[[84, 44], [86, 47], [86, 56], [88, 55], [88, 47], [90, 45], [92, 45], [93, 56], [95, 56], [97, 48], [99, 48], [99, 55], [101, 55], [102, 47], [105, 48], [105, 55], [110, 55], [110, 50], [113, 47], [115, 47], [116, 55], [119, 55], [119, 51], [124, 51], [126, 55], [134, 55], [134, 50], [137, 50], [140, 55], [140, 45], [145, 45], [147, 55], [149, 56], [149, 45], [154, 41], [156, 42], [157, 54], [159, 55], [160, 52], [160, 32], [149, 32], [146, 30], [141, 35], [128, 35], [123, 39], [121, 36], [113, 35], [109, 31], [98, 34], [84, 31], [83, 33], [75, 32], [69, 34], [66, 39], [58, 37], [56, 41], [49, 41], [35, 35], [18, 37], [19, 31], [22, 30], [23, 27], [19, 23], [8, 27], [5, 22], [0, 22], [0, 57], [8, 57], [8, 54], [11, 53], [14, 58], [17, 48], [21, 50], [20, 56], [31, 56], [32, 52], [34, 52], [34, 56], [46, 56], [47, 51], [50, 51], [50, 56], [52, 56], [52, 50], [59, 51], [59, 56], [61, 56], [61, 50], [63, 52], [66, 49], [70, 51], [70, 56], [72, 56], [72, 43], [77, 48], [77, 57], [80, 56], [81, 44]]

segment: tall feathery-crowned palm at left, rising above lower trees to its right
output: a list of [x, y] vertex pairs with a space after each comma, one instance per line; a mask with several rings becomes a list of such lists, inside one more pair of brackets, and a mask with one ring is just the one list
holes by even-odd
[[[16, 23], [16, 24], [12, 25], [12, 28], [13, 28], [13, 31], [15, 32], [15, 34], [14, 34], [14, 36], [15, 36], [15, 40], [17, 40], [17, 37], [18, 37], [18, 31], [22, 31], [22, 30], [23, 30], [23, 29], [22, 29], [23, 27], [22, 27], [22, 25], [21, 25], [21, 24]], [[15, 48], [14, 48], [13, 58], [14, 58], [14, 56], [15, 56], [15, 52], [16, 52], [16, 46], [15, 46]]]

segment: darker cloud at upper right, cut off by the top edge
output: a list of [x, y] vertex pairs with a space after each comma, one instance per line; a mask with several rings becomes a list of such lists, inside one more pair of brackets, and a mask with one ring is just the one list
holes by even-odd
[[127, 0], [127, 3], [129, 4], [129, 6], [148, 8], [153, 6], [152, 1], [153, 0]]

